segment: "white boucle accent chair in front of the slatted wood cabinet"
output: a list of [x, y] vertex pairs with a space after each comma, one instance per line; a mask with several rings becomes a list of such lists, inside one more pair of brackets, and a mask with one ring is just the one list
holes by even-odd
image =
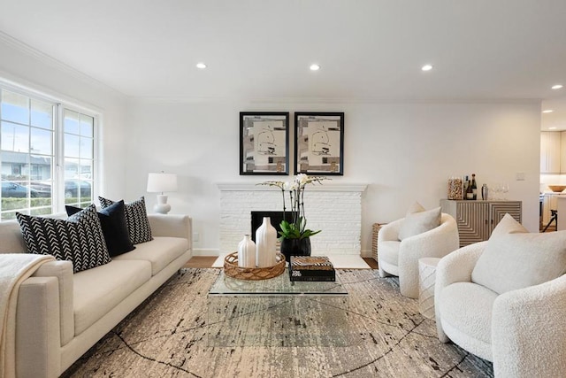
[[407, 217], [394, 220], [379, 229], [379, 275], [399, 276], [404, 297], [418, 298], [419, 258], [442, 258], [460, 246], [455, 219], [447, 213], [440, 213], [440, 208], [438, 212], [440, 226], [417, 235], [402, 237], [403, 222]]

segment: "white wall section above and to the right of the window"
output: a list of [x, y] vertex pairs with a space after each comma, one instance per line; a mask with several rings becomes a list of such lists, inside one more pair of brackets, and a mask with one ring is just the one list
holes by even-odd
[[107, 197], [124, 197], [126, 96], [1, 33], [0, 57], [0, 80], [103, 114], [97, 190]]

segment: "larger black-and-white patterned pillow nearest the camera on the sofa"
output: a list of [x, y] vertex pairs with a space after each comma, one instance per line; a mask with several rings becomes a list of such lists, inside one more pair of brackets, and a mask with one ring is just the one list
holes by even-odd
[[75, 273], [111, 262], [94, 204], [67, 220], [19, 212], [16, 218], [30, 253], [69, 260]]

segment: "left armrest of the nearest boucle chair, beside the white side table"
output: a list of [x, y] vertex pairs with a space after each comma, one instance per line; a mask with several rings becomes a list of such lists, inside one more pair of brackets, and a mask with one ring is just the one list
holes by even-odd
[[448, 342], [448, 337], [442, 329], [440, 321], [440, 306], [438, 300], [442, 289], [455, 282], [471, 282], [471, 272], [478, 262], [478, 258], [486, 249], [487, 242], [473, 243], [447, 254], [440, 258], [436, 266], [436, 279], [434, 282], [434, 312], [436, 316], [436, 330], [442, 343]]

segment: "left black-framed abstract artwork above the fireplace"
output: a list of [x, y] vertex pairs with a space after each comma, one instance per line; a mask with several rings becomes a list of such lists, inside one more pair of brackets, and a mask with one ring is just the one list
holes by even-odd
[[240, 112], [240, 174], [289, 174], [289, 112]]

